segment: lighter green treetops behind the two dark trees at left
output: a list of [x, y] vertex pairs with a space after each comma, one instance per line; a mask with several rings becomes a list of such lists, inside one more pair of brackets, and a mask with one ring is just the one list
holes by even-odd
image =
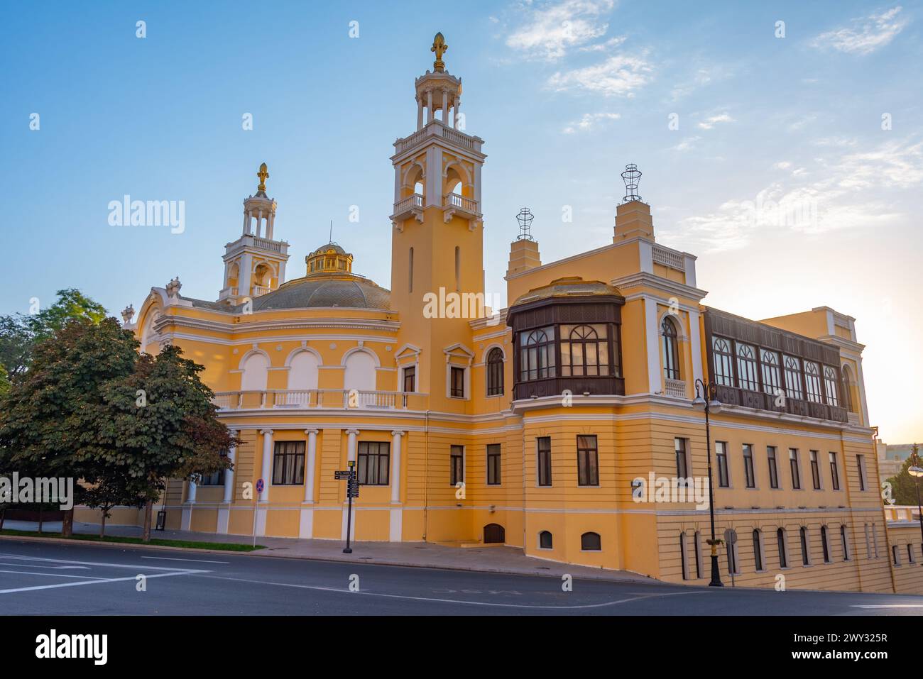
[[0, 365], [16, 379], [29, 369], [36, 342], [54, 336], [72, 318], [86, 318], [99, 323], [106, 310], [75, 288], [57, 292], [57, 300], [46, 309], [29, 316], [0, 316]]

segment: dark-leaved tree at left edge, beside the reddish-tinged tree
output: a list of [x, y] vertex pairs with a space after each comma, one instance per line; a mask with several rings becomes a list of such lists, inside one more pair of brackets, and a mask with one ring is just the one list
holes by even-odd
[[[66, 321], [34, 348], [30, 369], [14, 381], [0, 409], [0, 469], [20, 476], [97, 482], [109, 452], [100, 437], [108, 404], [103, 387], [126, 380], [138, 362], [138, 341], [114, 318]], [[62, 532], [73, 529], [73, 509]]]

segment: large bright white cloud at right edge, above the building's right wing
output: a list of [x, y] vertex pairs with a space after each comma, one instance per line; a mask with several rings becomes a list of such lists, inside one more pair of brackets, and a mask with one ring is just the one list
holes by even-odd
[[[708, 252], [722, 252], [743, 247], [769, 229], [819, 234], [889, 226], [903, 215], [879, 194], [923, 185], [923, 142], [888, 142], [819, 164], [810, 173], [798, 168], [752, 198], [733, 198], [709, 214], [679, 220], [674, 234]], [[773, 167], [785, 170], [791, 163]], [[809, 175], [817, 178], [805, 181]]]

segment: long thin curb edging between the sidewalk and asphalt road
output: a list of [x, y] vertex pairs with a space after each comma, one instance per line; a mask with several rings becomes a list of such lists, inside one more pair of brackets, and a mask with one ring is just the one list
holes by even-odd
[[[272, 547], [266, 547], [264, 549], [254, 550], [253, 552], [235, 552], [233, 550], [226, 549], [206, 549], [204, 547], [170, 547], [162, 544], [144, 544], [144, 543], [132, 543], [132, 542], [96, 542], [92, 540], [73, 540], [70, 538], [39, 538], [33, 535], [0, 535], [0, 541], [21, 541], [21, 542], [51, 542], [53, 544], [69, 544], [69, 545], [92, 545], [94, 547], [109, 547], [116, 549], [150, 549], [150, 550], [174, 550], [188, 552], [190, 554], [223, 554], [229, 555], [233, 554], [235, 556], [260, 556], [268, 557], [273, 559], [293, 559], [301, 561], [324, 561], [331, 564], [356, 564], [356, 565], [369, 565], [369, 566], [396, 566], [401, 568], [430, 568], [435, 570], [454, 570], [462, 571], [466, 573], [495, 573], [501, 575], [513, 575], [513, 576], [533, 576], [535, 578], [558, 578], [559, 576], [555, 573], [531, 573], [523, 572], [518, 570], [509, 570], [503, 568], [475, 568], [472, 566], [447, 566], [447, 565], [431, 565], [431, 564], [414, 564], [409, 562], [399, 562], [399, 561], [381, 561], [380, 559], [370, 558], [370, 559], [337, 559], [330, 558], [329, 556], [294, 556], [292, 554], [271, 554], [270, 550]], [[586, 566], [580, 566], [581, 568]], [[643, 576], [636, 576], [632, 578], [606, 578], [605, 576], [593, 575], [591, 574], [581, 574], [576, 576], [574, 579], [578, 580], [596, 580], [601, 582], [624, 582], [631, 584], [658, 584], [658, 585], [669, 585], [671, 583], [663, 582], [656, 578], [644, 578]]]

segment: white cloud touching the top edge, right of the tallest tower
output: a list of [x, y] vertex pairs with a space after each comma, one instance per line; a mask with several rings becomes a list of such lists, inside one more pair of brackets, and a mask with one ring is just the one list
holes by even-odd
[[605, 35], [609, 25], [601, 16], [612, 10], [615, 0], [563, 0], [533, 8], [528, 2], [526, 22], [507, 37], [507, 46], [530, 59], [557, 61], [571, 47], [579, 47]]

